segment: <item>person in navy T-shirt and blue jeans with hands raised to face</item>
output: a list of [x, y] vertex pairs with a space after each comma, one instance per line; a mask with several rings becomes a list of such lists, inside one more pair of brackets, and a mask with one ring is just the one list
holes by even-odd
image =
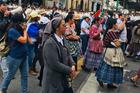
[[4, 77], [0, 93], [6, 93], [8, 86], [18, 68], [21, 73], [21, 93], [28, 93], [28, 63], [27, 63], [27, 32], [22, 14], [13, 15], [12, 25], [8, 30], [10, 50], [7, 55], [8, 73]]

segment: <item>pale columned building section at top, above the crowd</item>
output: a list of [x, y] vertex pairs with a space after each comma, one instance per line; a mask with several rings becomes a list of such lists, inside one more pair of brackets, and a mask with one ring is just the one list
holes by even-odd
[[46, 7], [77, 9], [83, 11], [97, 11], [101, 8], [102, 0], [45, 0]]

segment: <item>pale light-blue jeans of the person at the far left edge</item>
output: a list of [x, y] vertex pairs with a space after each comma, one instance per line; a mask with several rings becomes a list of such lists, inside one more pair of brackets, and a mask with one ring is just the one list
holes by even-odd
[[6, 77], [7, 73], [8, 73], [8, 63], [6, 61], [6, 57], [2, 57], [0, 59], [0, 66], [3, 72], [3, 78]]

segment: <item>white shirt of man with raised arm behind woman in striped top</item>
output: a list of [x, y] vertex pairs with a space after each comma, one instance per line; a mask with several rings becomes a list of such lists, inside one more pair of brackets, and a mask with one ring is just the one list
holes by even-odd
[[[120, 26], [123, 22], [122, 22], [122, 20], [118, 19], [117, 20], [117, 23]], [[121, 32], [120, 40], [121, 40], [121, 42], [126, 42], [127, 41], [127, 30], [126, 30], [126, 26], [124, 26], [124, 29]]]

